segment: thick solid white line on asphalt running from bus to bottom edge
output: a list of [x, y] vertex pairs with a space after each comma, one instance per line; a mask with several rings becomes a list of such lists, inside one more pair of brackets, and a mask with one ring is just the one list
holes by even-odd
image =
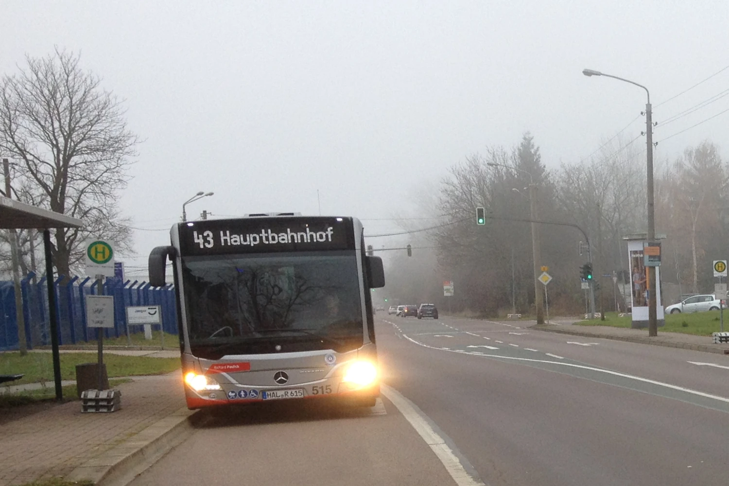
[[451, 447], [448, 447], [448, 444], [445, 443], [445, 439], [433, 430], [424, 416], [419, 414], [415, 407], [413, 407], [410, 400], [402, 396], [399, 391], [385, 385], [384, 383], [380, 385], [380, 390], [382, 394], [386, 396], [395, 407], [397, 407], [399, 412], [402, 413], [402, 416], [405, 417], [405, 420], [410, 422], [410, 425], [413, 426], [425, 443], [429, 445], [435, 455], [438, 456], [438, 459], [440, 459], [440, 462], [443, 463], [448, 474], [451, 474], [456, 485], [485, 486], [483, 482], [480, 482], [480, 480], [469, 476], [459, 458], [457, 458], [456, 454], [453, 453]]

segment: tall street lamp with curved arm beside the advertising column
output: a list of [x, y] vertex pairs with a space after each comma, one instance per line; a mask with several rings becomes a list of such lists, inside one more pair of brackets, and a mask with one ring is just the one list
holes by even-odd
[[[647, 234], [647, 240], [648, 243], [653, 243], [655, 240], [655, 209], [653, 205], [653, 120], [652, 120], [652, 111], [650, 109], [650, 92], [648, 91], [648, 88], [639, 85], [638, 83], [631, 81], [630, 79], [625, 79], [617, 76], [612, 76], [612, 74], [605, 74], [601, 73], [600, 71], [594, 71], [593, 69], [583, 69], [582, 74], [585, 74], [585, 76], [605, 76], [609, 78], [614, 79], [620, 79], [620, 81], [629, 82], [631, 85], [636, 85], [638, 87], [642, 87], [645, 90], [645, 93], [647, 95], [647, 103], [645, 105], [645, 142], [647, 147], [647, 157], [646, 157], [646, 165], [647, 165], [647, 211], [648, 211], [648, 234]], [[656, 278], [655, 278], [655, 267], [646, 267], [648, 270], [648, 286], [650, 290], [648, 291], [648, 335], [649, 336], [658, 336], [658, 313], [656, 310], [657, 305], [657, 297], [656, 294], [658, 293], [657, 287], [656, 287]]]

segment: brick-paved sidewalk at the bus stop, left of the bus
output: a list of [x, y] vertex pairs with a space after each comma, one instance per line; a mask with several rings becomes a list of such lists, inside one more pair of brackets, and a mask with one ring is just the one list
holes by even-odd
[[66, 476], [145, 428], [185, 408], [179, 371], [133, 377], [116, 387], [122, 407], [112, 413], [81, 413], [71, 401], [1, 426], [0, 486]]

